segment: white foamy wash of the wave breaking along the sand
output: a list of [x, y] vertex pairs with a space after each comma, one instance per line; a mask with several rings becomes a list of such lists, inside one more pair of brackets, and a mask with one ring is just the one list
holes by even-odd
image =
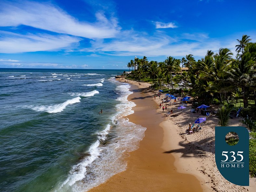
[[120, 95], [116, 114], [106, 128], [98, 132], [96, 142], [86, 152], [88, 156], [72, 167], [68, 178], [55, 191], [88, 191], [126, 169], [125, 157], [138, 148], [146, 130], [124, 117], [134, 113], [134, 102], [127, 100], [132, 94], [129, 88], [129, 84], [116, 88], [116, 93]]

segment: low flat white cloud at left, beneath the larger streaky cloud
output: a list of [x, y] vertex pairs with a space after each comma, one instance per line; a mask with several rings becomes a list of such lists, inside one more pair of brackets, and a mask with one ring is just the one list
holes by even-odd
[[20, 53], [34, 51], [59, 50], [80, 41], [68, 35], [26, 34], [0, 31], [0, 53]]

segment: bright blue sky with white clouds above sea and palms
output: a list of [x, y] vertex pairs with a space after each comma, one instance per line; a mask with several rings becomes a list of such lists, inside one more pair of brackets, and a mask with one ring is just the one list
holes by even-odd
[[243, 34], [252, 0], [0, 0], [0, 68], [127, 69], [135, 56], [196, 59]]

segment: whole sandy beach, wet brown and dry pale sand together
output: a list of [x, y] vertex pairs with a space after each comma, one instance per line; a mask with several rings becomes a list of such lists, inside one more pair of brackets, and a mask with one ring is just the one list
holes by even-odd
[[[119, 80], [127, 81], [125, 79]], [[190, 113], [191, 104], [178, 110], [174, 104], [174, 116], [165, 117], [159, 108], [161, 99], [154, 99], [156, 91], [150, 91], [148, 83], [128, 81], [134, 93], [128, 97], [136, 106], [129, 121], [147, 127], [139, 149], [126, 158], [127, 169], [112, 176], [107, 182], [94, 187], [94, 191], [256, 191], [255, 178], [250, 186], [237, 186], [226, 181], [215, 165], [216, 116], [202, 123], [203, 129], [186, 134], [188, 123], [201, 115]], [[177, 102], [179, 104], [179, 102]], [[177, 115], [177, 116], [176, 116]], [[176, 116], [176, 117], [175, 117]], [[231, 119], [230, 126], [243, 126], [241, 119]]]

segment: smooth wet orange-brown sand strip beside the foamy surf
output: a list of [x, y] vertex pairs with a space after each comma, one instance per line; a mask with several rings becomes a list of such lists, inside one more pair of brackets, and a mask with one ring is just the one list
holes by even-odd
[[147, 128], [145, 137], [140, 141], [139, 148], [126, 158], [125, 171], [89, 191], [186, 191], [187, 188], [190, 191], [203, 191], [198, 176], [177, 172], [174, 166], [176, 158], [166, 152], [172, 148], [162, 146], [165, 133], [160, 123], [165, 118], [158, 114], [158, 105], [152, 94], [148, 93], [149, 89], [132, 82], [129, 84], [133, 94], [128, 96], [128, 100], [136, 106], [133, 107], [134, 113], [127, 118]]

